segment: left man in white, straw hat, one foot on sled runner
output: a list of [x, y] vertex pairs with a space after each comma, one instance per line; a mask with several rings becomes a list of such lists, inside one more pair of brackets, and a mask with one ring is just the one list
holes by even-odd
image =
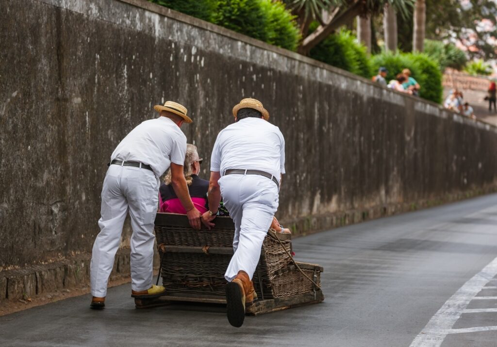
[[134, 297], [151, 298], [165, 293], [163, 286], [152, 284], [154, 258], [154, 220], [159, 201], [159, 177], [170, 167], [174, 191], [187, 211], [193, 229], [200, 229], [200, 212], [193, 205], [185, 177], [183, 162], [186, 137], [179, 129], [191, 123], [182, 105], [167, 101], [154, 106], [160, 113], [134, 128], [116, 147], [102, 187], [100, 233], [93, 245], [90, 280], [90, 307], [105, 306], [107, 281], [119, 247], [124, 219], [130, 214], [131, 293]]

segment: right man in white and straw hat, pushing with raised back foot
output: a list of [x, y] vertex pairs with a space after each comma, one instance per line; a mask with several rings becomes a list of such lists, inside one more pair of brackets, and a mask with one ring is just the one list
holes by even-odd
[[235, 123], [221, 130], [212, 150], [209, 211], [202, 220], [214, 226], [222, 196], [235, 223], [235, 253], [225, 273], [227, 315], [232, 326], [241, 327], [245, 306], [256, 298], [251, 279], [278, 208], [285, 140], [258, 100], [243, 99], [233, 116]]

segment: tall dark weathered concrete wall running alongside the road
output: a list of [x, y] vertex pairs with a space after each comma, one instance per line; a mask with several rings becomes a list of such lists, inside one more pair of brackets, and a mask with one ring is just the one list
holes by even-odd
[[153, 105], [186, 105], [209, 158], [248, 96], [286, 138], [278, 216], [301, 232], [497, 186], [495, 127], [144, 0], [5, 0], [0, 270], [90, 252], [106, 163]]

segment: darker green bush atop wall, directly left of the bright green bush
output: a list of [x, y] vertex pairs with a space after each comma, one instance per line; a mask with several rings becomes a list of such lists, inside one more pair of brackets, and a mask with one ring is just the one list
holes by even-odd
[[219, 0], [214, 22], [257, 40], [268, 40], [268, 14], [260, 0]]

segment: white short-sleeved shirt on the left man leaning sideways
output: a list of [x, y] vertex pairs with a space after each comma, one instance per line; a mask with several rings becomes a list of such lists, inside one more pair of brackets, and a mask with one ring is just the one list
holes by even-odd
[[161, 176], [171, 163], [183, 165], [186, 154], [186, 136], [167, 117], [142, 122], [117, 145], [110, 157], [140, 162], [152, 167]]

